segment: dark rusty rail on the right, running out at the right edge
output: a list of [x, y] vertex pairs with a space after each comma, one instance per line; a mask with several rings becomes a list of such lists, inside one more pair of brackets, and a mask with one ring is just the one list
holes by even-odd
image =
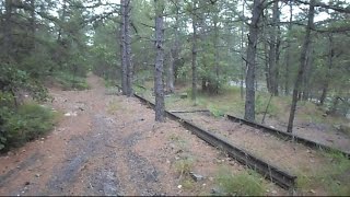
[[249, 121], [249, 120], [246, 120], [246, 119], [242, 119], [242, 118], [229, 115], [229, 114], [226, 114], [225, 116], [231, 121], [245, 124], [247, 126], [260, 129], [264, 132], [269, 132], [269, 134], [271, 134], [271, 135], [273, 135], [273, 136], [276, 136], [278, 138], [281, 138], [283, 140], [296, 141], [296, 142], [303, 143], [303, 144], [305, 144], [305, 146], [307, 146], [310, 148], [318, 148], [318, 149], [324, 149], [324, 150], [337, 151], [337, 152], [341, 153], [342, 155], [345, 155], [346, 158], [350, 159], [350, 152], [345, 152], [342, 150], [339, 150], [339, 149], [336, 149], [336, 148], [331, 148], [331, 147], [328, 147], [326, 144], [318, 143], [316, 141], [312, 141], [312, 140], [295, 136], [295, 135], [290, 134], [290, 132], [285, 132], [285, 131], [282, 131], [282, 130], [270, 128], [268, 126], [265, 126], [265, 125], [261, 125], [261, 124], [258, 124], [258, 123], [253, 123], [253, 121]]

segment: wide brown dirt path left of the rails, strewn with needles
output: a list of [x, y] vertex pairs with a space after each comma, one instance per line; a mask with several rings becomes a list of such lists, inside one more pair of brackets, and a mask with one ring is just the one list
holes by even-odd
[[[70, 116], [0, 157], [0, 195], [210, 195], [221, 166], [245, 171], [178, 123], [155, 124], [138, 100], [106, 95], [95, 76], [88, 81], [91, 90], [50, 90], [47, 105]], [[188, 159], [205, 179], [185, 188], [176, 163]], [[267, 185], [267, 195], [287, 194]]]

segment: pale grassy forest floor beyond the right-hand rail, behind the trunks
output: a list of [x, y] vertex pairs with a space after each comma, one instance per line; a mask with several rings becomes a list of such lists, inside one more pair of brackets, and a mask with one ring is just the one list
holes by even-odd
[[[242, 112], [242, 108], [244, 109], [244, 102], [242, 103], [240, 99], [240, 92], [228, 90], [229, 93], [219, 95], [200, 95], [197, 99], [199, 101], [198, 104], [194, 105], [190, 99], [180, 99], [180, 95], [186, 93], [186, 90], [187, 86], [178, 86], [175, 89], [175, 94], [165, 97], [166, 108], [168, 111], [210, 109], [211, 113], [217, 111], [219, 114], [228, 113], [243, 118], [242, 115], [244, 112]], [[154, 102], [152, 92], [142, 90], [141, 94]], [[267, 94], [266, 96], [268, 97], [269, 95]], [[275, 101], [277, 99], [275, 99]], [[289, 112], [290, 105], [287, 104], [288, 102], [285, 101], [282, 102], [281, 99], [278, 102], [280, 103], [275, 103], [277, 105], [276, 107], [278, 107], [273, 112], [275, 115], [271, 116], [267, 114], [264, 125], [285, 131], [289, 118], [289, 113], [287, 112]], [[265, 107], [264, 105], [264, 109]], [[256, 116], [258, 123], [261, 118], [262, 114]], [[224, 117], [222, 117], [222, 119], [224, 119]], [[350, 134], [336, 129], [335, 125], [338, 124], [345, 124], [350, 127], [348, 119], [342, 118], [340, 121], [340, 119], [336, 117], [324, 117], [322, 112], [313, 104], [302, 104], [302, 102], [300, 102], [294, 119], [293, 135], [350, 153]]]

